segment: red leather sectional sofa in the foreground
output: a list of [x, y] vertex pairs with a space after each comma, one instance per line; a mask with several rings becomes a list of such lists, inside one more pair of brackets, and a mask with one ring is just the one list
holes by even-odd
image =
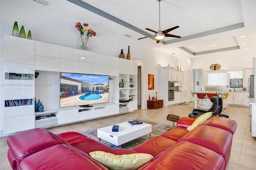
[[237, 123], [232, 119], [213, 117], [190, 132], [195, 121], [182, 117], [177, 127], [129, 149], [113, 149], [77, 132], [52, 132], [35, 128], [7, 139], [8, 160], [17, 170], [106, 170], [90, 157], [101, 150], [113, 154], [148, 153], [154, 158], [139, 170], [224, 170], [230, 156], [232, 137]]

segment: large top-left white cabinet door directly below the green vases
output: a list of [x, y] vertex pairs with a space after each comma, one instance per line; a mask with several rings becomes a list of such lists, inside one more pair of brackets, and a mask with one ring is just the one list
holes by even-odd
[[4, 35], [4, 62], [35, 65], [35, 41]]

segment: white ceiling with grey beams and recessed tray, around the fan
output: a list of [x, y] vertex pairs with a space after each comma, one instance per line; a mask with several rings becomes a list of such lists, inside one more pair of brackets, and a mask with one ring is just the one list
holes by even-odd
[[[47, 8], [51, 10], [86, 20], [93, 26], [115, 34], [122, 36], [129, 34], [132, 36], [130, 37], [131, 40], [160, 49], [176, 57], [191, 57], [192, 55], [202, 57], [204, 55], [198, 54], [256, 50], [255, 0], [161, 0], [161, 30], [180, 26], [169, 34], [182, 38], [166, 37], [160, 43], [156, 43], [154, 37], [138, 40], [138, 38], [150, 34], [154, 35], [153, 32], [145, 30], [145, 28], [155, 31], [159, 29], [157, 0], [46, 1], [50, 2]], [[73, 4], [73, 2], [79, 3], [80, 6]], [[88, 7], [88, 4], [93, 7]], [[100, 12], [102, 16], [81, 6], [95, 10], [96, 13]], [[94, 9], [94, 7], [98, 9]], [[110, 17], [115, 22], [104, 17]], [[246, 37], [241, 38], [241, 36]], [[189, 51], [182, 50], [184, 48]]]

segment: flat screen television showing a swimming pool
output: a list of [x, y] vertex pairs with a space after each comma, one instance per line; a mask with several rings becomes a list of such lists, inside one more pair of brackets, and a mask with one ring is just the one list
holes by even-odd
[[60, 108], [109, 102], [109, 76], [60, 73]]

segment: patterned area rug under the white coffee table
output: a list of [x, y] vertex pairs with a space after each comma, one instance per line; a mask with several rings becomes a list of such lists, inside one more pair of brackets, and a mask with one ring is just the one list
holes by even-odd
[[[134, 120], [152, 125], [151, 138], [154, 136], [159, 136], [160, 134], [163, 134], [164, 132], [166, 132], [166, 129], [171, 127], [171, 125], [168, 125], [168, 124], [156, 123], [156, 122], [146, 121], [146, 120], [142, 120], [142, 119], [134, 119]], [[97, 129], [88, 130], [86, 132], [82, 132], [82, 134], [84, 134], [85, 136], [88, 136], [90, 138], [94, 138], [95, 140], [99, 140], [99, 138], [97, 137]], [[140, 138], [136, 138], [130, 142], [122, 144], [121, 148], [132, 149], [132, 148], [138, 146], [139, 144], [146, 142], [148, 140], [148, 138], [149, 138], [149, 134], [146, 134], [144, 136], [141, 136]], [[101, 142], [103, 142], [104, 144], [106, 144], [112, 148], [119, 148], [119, 146], [111, 144], [105, 140], [101, 140]]]

